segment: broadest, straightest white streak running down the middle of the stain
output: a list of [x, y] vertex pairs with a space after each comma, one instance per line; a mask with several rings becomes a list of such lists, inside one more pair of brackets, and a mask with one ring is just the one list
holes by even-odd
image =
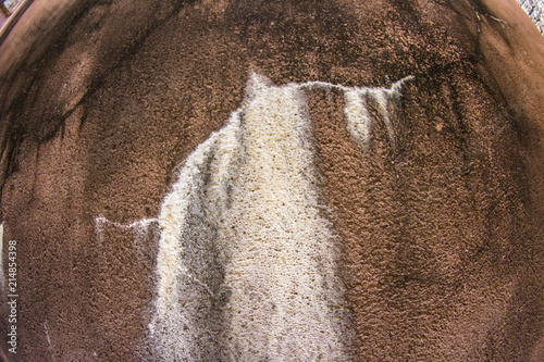
[[344, 288], [318, 208], [302, 93], [259, 86], [224, 229], [228, 350], [236, 361], [347, 360]]

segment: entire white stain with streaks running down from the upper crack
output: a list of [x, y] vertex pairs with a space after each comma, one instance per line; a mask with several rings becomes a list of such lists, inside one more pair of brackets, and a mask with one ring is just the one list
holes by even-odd
[[391, 112], [410, 78], [386, 89], [274, 86], [251, 75], [242, 107], [187, 158], [161, 207], [149, 325], [158, 360], [350, 360], [351, 319], [305, 92], [342, 90], [346, 127], [363, 149], [371, 104], [394, 146]]

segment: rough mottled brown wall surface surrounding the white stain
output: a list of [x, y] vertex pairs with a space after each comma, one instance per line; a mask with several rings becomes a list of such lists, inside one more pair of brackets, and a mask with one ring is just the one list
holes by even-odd
[[157, 225], [122, 225], [157, 217], [251, 70], [416, 77], [364, 152], [343, 96], [307, 95], [361, 361], [544, 359], [544, 40], [515, 0], [35, 0], [0, 43], [18, 361], [149, 359]]

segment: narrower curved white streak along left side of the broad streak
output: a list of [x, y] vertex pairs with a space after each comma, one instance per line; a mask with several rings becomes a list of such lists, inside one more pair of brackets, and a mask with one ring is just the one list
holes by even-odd
[[223, 257], [214, 242], [224, 223], [238, 133], [239, 113], [235, 112], [225, 128], [187, 159], [162, 204], [159, 290], [150, 324], [160, 360], [200, 361], [219, 353], [215, 339], [221, 325], [214, 303]]

